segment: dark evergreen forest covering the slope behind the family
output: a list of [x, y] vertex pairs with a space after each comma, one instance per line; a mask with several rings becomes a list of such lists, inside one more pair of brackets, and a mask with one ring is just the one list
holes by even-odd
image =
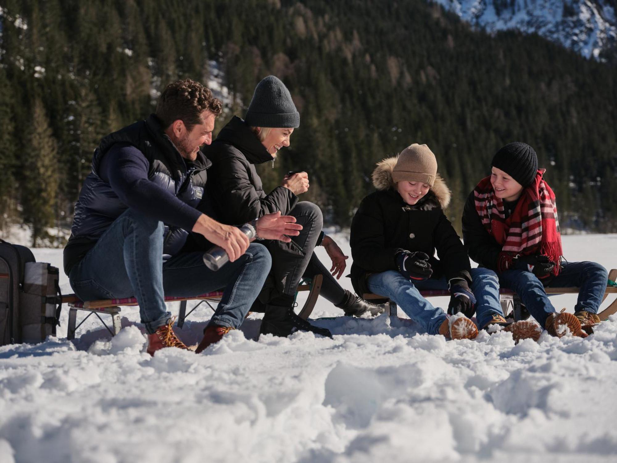
[[170, 81], [222, 79], [216, 132], [273, 74], [300, 127], [260, 175], [268, 191], [306, 170], [303, 199], [330, 225], [349, 225], [377, 161], [426, 143], [460, 230], [494, 152], [524, 141], [561, 227], [617, 231], [615, 65], [537, 35], [489, 35], [422, 0], [3, 0], [0, 33], [0, 230], [70, 227], [101, 137]]

